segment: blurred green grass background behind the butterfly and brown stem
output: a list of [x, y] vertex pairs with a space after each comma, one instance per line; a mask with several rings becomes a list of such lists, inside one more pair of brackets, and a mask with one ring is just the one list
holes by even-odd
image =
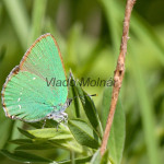
[[[45, 33], [57, 39], [67, 73], [71, 69], [75, 79], [113, 78], [125, 5], [125, 0], [1, 0], [0, 87], [26, 49]], [[138, 0], [132, 12], [120, 93], [127, 130], [122, 164], [164, 161], [163, 7], [163, 0]], [[101, 116], [104, 87], [84, 90], [98, 94], [94, 103]], [[16, 128], [22, 126], [5, 118], [0, 106], [0, 149], [13, 149], [8, 140], [21, 138]], [[51, 152], [54, 160], [68, 155]], [[0, 154], [0, 163], [14, 162]]]

